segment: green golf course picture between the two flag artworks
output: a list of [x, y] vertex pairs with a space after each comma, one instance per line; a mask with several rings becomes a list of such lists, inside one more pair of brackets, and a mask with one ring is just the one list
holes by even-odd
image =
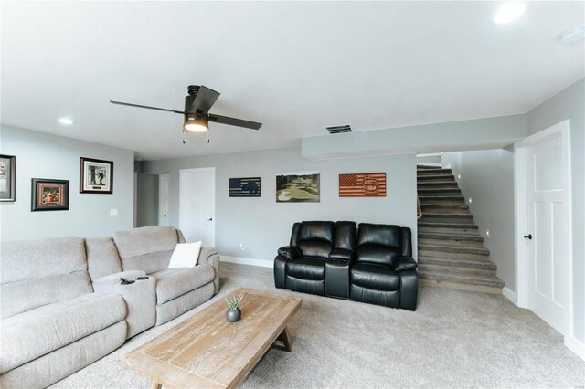
[[276, 175], [277, 203], [319, 203], [320, 173], [290, 172]]

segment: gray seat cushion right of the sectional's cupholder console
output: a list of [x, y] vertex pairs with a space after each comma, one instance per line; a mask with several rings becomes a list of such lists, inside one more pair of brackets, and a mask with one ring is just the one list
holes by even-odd
[[156, 279], [156, 303], [160, 305], [212, 282], [216, 271], [211, 265], [201, 264], [194, 268], [167, 268], [149, 276]]

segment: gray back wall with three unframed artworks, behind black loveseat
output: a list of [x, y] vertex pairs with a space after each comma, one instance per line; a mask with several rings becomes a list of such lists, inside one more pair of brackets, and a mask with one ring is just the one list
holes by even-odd
[[[179, 169], [216, 168], [216, 246], [220, 254], [271, 263], [288, 244], [293, 223], [301, 220], [353, 220], [410, 226], [416, 250], [416, 157], [414, 154], [313, 162], [299, 147], [143, 162], [144, 173], [170, 173], [169, 224], [178, 226]], [[276, 174], [319, 170], [320, 203], [276, 203]], [[339, 173], [387, 173], [387, 196], [340, 198]], [[261, 177], [261, 197], [229, 197], [230, 177]], [[244, 242], [245, 251], [239, 249]]]

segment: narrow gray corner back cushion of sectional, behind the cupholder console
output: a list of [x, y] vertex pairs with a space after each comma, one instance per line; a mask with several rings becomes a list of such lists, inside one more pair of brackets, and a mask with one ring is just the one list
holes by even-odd
[[112, 237], [86, 238], [85, 251], [91, 280], [122, 271], [122, 263]]

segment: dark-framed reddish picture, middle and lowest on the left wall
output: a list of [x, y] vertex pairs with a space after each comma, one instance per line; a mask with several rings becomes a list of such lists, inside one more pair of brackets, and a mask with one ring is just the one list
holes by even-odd
[[64, 211], [69, 209], [69, 180], [32, 179], [31, 211]]

